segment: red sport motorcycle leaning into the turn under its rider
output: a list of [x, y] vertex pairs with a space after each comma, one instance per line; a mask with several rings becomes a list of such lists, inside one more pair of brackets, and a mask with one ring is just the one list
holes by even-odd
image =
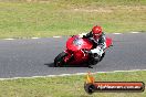
[[[106, 48], [112, 46], [112, 39], [106, 37]], [[86, 63], [87, 65], [91, 60], [88, 58], [90, 55], [87, 51], [93, 48], [93, 44], [88, 39], [83, 39], [80, 37], [79, 35], [73, 35], [66, 41], [66, 50], [62, 53], [60, 53], [55, 58], [54, 58], [54, 66], [55, 67], [61, 67], [65, 65], [81, 65]], [[106, 50], [105, 48], [105, 50]], [[105, 55], [105, 50], [104, 53], [102, 54], [102, 57], [98, 57], [98, 62], [101, 62]], [[95, 65], [98, 62], [94, 62]]]

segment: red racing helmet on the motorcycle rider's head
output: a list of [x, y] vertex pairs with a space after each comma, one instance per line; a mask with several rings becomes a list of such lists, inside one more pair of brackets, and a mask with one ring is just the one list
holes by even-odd
[[95, 25], [92, 29], [92, 34], [94, 36], [94, 39], [98, 39], [102, 35], [102, 28], [100, 25]]

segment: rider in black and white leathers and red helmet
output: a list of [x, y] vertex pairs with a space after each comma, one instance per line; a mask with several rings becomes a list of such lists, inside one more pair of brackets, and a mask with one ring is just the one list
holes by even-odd
[[103, 56], [104, 50], [106, 47], [105, 34], [102, 31], [102, 26], [95, 25], [92, 28], [92, 31], [86, 35], [82, 36], [83, 39], [88, 39], [93, 43], [93, 48], [88, 51], [90, 64], [94, 64], [101, 60]]

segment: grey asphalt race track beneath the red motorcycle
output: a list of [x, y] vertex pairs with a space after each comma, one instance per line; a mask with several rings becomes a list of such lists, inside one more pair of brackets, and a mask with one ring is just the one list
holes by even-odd
[[146, 33], [107, 34], [113, 47], [93, 68], [53, 67], [54, 57], [65, 48], [66, 36], [35, 40], [0, 40], [0, 78], [73, 73], [146, 69]]

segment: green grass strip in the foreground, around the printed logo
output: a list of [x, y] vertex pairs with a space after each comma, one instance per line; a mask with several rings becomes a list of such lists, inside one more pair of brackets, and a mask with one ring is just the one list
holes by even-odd
[[[98, 73], [98, 82], [144, 82], [146, 71]], [[144, 93], [95, 93], [84, 91], [86, 76], [40, 77], [0, 80], [0, 97], [146, 97]]]

